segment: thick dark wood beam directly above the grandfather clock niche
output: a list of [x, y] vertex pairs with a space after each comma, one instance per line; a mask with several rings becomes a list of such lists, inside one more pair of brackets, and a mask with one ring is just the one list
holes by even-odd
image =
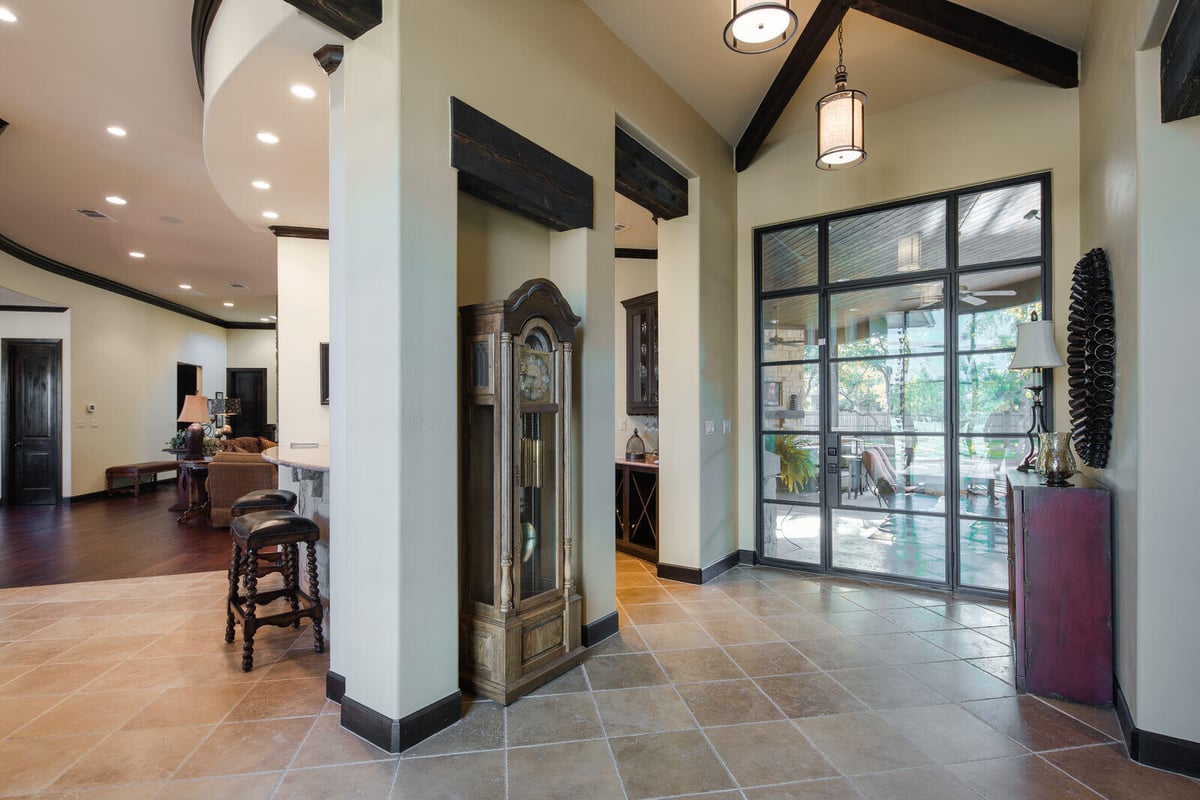
[[457, 97], [450, 166], [458, 188], [553, 230], [590, 228], [592, 176]]

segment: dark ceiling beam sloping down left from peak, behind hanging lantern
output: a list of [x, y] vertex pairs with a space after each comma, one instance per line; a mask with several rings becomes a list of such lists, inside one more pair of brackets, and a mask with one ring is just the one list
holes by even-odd
[[[745, 170], [754, 157], [758, 155], [758, 149], [767, 140], [767, 134], [775, 127], [775, 122], [784, 114], [784, 109], [792, 102], [796, 90], [804, 83], [809, 70], [816, 62], [817, 56], [824, 48], [829, 37], [838, 30], [838, 24], [846, 16], [850, 0], [821, 0], [821, 4], [812, 12], [804, 30], [797, 37], [787, 60], [780, 67], [779, 74], [770, 84], [770, 89], [763, 95], [758, 110], [754, 113], [750, 125], [742, 133], [734, 151], [734, 167], [740, 173]], [[830, 91], [833, 83], [829, 84]]]

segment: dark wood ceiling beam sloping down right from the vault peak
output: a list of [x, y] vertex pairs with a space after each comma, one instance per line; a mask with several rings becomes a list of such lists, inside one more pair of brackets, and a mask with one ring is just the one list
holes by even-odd
[[1070, 48], [949, 0], [853, 0], [851, 7], [1055, 86], [1079, 85], [1079, 54]]

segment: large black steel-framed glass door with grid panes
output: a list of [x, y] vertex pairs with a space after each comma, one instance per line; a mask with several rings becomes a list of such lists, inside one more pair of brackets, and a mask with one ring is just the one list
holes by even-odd
[[1007, 590], [1046, 207], [1039, 176], [757, 231], [763, 561]]

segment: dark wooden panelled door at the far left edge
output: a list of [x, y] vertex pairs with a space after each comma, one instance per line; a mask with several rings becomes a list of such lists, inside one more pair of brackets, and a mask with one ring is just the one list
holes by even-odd
[[10, 339], [5, 363], [5, 503], [56, 505], [61, 497], [62, 343]]

